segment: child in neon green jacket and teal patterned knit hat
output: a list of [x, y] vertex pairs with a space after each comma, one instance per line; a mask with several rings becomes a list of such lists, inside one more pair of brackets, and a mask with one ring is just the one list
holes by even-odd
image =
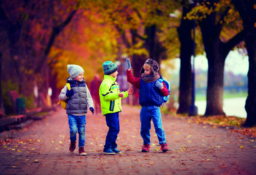
[[118, 75], [118, 66], [112, 61], [103, 63], [104, 80], [99, 89], [100, 104], [102, 115], [106, 118], [106, 124], [109, 127], [106, 142], [104, 145], [104, 154], [121, 154], [117, 149], [116, 140], [120, 130], [119, 113], [122, 111], [121, 98], [126, 98], [133, 94], [133, 89], [120, 91], [116, 82]]

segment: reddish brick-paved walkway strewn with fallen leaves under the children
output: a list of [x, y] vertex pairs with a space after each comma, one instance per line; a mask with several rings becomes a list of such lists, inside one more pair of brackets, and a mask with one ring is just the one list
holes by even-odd
[[101, 115], [87, 115], [87, 156], [71, 155], [65, 110], [15, 131], [0, 144], [0, 174], [256, 174], [256, 139], [163, 115], [170, 151], [162, 153], [152, 124], [149, 153], [141, 153], [139, 107], [123, 106], [120, 155], [104, 155]]

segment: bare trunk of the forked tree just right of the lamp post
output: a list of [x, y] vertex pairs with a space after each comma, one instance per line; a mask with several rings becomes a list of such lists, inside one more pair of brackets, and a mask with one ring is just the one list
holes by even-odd
[[220, 26], [215, 25], [216, 14], [212, 13], [200, 23], [205, 52], [208, 60], [207, 103], [205, 116], [225, 115], [223, 112], [224, 62], [227, 53], [223, 53], [219, 39]]

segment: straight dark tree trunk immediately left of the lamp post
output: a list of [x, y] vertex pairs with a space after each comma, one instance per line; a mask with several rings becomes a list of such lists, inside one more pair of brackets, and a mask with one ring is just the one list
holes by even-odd
[[183, 17], [191, 9], [183, 7], [181, 25], [178, 28], [180, 48], [180, 87], [179, 87], [179, 109], [178, 114], [188, 113], [191, 104], [192, 93], [192, 73], [191, 55], [193, 54], [193, 41], [191, 37], [192, 21], [185, 20]]

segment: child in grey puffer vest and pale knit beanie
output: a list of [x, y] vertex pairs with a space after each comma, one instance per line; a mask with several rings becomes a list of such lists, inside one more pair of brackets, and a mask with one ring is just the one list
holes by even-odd
[[87, 106], [94, 115], [93, 99], [83, 78], [83, 68], [79, 65], [69, 64], [68, 73], [70, 77], [67, 78], [67, 83], [70, 84], [71, 89], [68, 90], [67, 85], [65, 85], [59, 95], [59, 99], [67, 102], [66, 111], [70, 128], [69, 152], [73, 154], [75, 151], [76, 132], [78, 131], [78, 152], [79, 155], [84, 156], [87, 155], [84, 151]]

